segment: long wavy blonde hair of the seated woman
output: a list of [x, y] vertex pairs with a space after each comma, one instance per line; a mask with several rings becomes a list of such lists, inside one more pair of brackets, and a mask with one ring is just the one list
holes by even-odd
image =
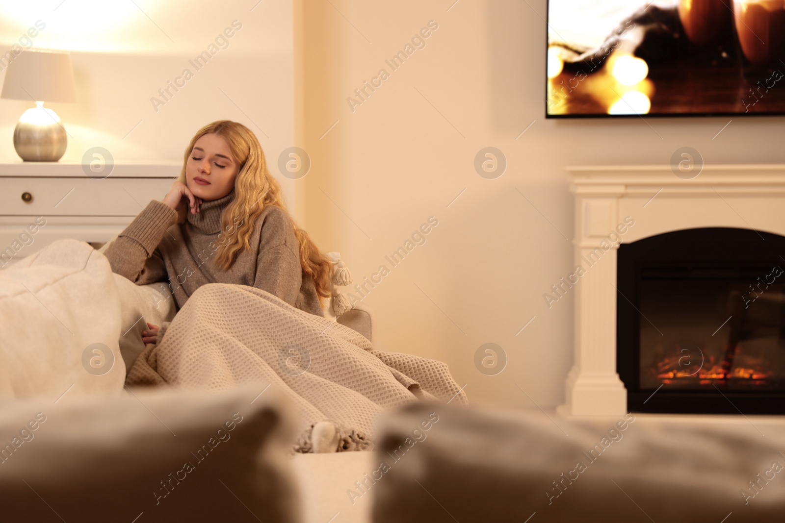
[[[222, 240], [218, 247], [215, 257], [216, 265], [228, 271], [235, 263], [237, 255], [243, 249], [250, 249], [248, 238], [254, 231], [254, 223], [262, 210], [268, 205], [276, 205], [276, 207], [283, 209], [291, 220], [294, 235], [300, 244], [300, 267], [303, 274], [313, 278], [316, 294], [319, 296], [319, 304], [323, 306], [323, 299], [330, 296], [330, 271], [332, 271], [333, 264], [327, 256], [319, 252], [308, 233], [298, 227], [289, 214], [281, 198], [280, 186], [276, 179], [270, 176], [267, 169], [265, 153], [261, 150], [259, 140], [250, 129], [231, 120], [218, 120], [199, 129], [185, 149], [183, 169], [180, 176], [177, 176], [177, 181], [187, 185], [185, 165], [188, 164], [188, 157], [193, 151], [196, 140], [210, 133], [217, 134], [226, 140], [235, 162], [239, 165], [235, 177], [235, 198], [221, 213], [221, 231], [232, 231], [232, 234], [228, 234], [228, 237]], [[185, 211], [187, 210], [185, 207], [187, 206], [184, 205], [178, 213], [178, 223], [185, 221]], [[239, 223], [240, 220], [243, 221], [239, 227], [230, 227], [234, 223]]]

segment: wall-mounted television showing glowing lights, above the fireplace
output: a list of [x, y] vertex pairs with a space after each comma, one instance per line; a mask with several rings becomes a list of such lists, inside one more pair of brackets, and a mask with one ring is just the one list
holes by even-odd
[[785, 0], [549, 0], [546, 117], [785, 114]]

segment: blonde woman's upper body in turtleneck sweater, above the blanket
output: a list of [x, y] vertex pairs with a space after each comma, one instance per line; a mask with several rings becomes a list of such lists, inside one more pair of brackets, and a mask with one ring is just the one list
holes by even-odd
[[[330, 296], [330, 260], [291, 219], [254, 133], [229, 120], [199, 129], [163, 201], [104, 254], [137, 285], [168, 278], [178, 310], [206, 283], [250, 285], [318, 316]], [[142, 340], [158, 343], [169, 322], [147, 325]]]

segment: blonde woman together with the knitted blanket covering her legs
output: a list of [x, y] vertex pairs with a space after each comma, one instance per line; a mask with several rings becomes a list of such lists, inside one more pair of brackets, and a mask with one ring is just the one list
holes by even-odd
[[382, 409], [465, 401], [444, 363], [374, 350], [323, 317], [332, 264], [291, 220], [249, 129], [206, 125], [185, 154], [169, 194], [104, 252], [139, 285], [169, 278], [177, 300], [173, 321], [142, 332], [126, 384], [272, 386], [297, 406], [298, 452], [368, 449]]

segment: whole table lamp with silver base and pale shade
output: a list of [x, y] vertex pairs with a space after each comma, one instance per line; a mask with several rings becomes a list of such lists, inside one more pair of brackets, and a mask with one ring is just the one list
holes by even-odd
[[2, 98], [35, 101], [13, 130], [13, 147], [25, 162], [57, 162], [68, 135], [60, 117], [44, 102], [74, 103], [76, 85], [71, 54], [49, 50], [21, 51], [5, 71]]

